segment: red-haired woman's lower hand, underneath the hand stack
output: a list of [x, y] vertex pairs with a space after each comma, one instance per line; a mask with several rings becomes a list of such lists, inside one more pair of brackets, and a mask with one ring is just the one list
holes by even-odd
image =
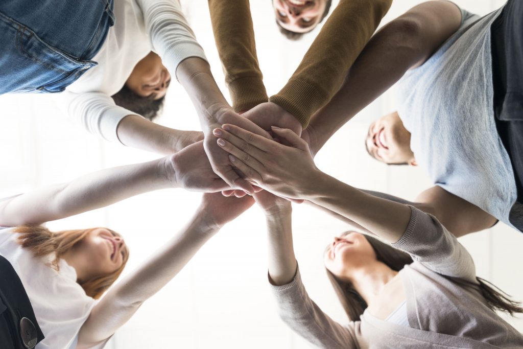
[[200, 211], [206, 216], [204, 221], [209, 228], [221, 229], [253, 204], [254, 199], [251, 196], [236, 198], [224, 197], [220, 193], [207, 193], [203, 194]]

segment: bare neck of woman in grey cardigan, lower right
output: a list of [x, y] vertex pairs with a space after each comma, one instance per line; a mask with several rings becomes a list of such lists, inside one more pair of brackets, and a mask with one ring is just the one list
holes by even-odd
[[349, 279], [367, 305], [370, 305], [383, 287], [396, 275], [396, 271], [384, 263], [376, 261], [354, 270]]

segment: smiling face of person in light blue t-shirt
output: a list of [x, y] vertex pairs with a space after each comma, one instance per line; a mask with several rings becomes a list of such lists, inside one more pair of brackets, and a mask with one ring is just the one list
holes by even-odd
[[416, 164], [411, 150], [411, 133], [405, 129], [397, 112], [370, 125], [365, 146], [374, 159], [386, 164]]

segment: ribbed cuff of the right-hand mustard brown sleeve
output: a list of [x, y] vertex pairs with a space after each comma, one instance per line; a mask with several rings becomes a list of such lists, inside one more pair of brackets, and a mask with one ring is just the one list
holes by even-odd
[[278, 94], [269, 98], [269, 102], [290, 112], [305, 129], [311, 116], [327, 103], [327, 98], [310, 83], [291, 78]]

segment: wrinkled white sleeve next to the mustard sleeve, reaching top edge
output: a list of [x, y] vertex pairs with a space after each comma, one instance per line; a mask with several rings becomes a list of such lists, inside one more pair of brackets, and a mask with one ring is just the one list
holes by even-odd
[[155, 52], [167, 70], [176, 75], [181, 61], [199, 57], [207, 61], [202, 47], [181, 12], [179, 0], [137, 0], [142, 9], [145, 28]]

